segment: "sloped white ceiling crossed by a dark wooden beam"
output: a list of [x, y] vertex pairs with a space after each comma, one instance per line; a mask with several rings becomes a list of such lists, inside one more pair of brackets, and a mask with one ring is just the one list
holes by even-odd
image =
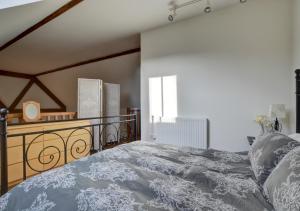
[[[185, 2], [178, 0], [179, 3]], [[0, 10], [0, 45], [68, 0], [45, 0]], [[37, 74], [110, 53], [139, 47], [139, 34], [170, 24], [170, 0], [85, 0], [0, 52], [0, 69]], [[178, 12], [176, 21], [203, 13], [205, 0]], [[211, 0], [213, 8], [239, 0]]]

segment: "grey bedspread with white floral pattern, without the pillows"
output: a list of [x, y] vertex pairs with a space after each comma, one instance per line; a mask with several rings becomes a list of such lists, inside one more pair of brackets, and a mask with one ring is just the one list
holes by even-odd
[[134, 142], [21, 183], [0, 210], [272, 210], [247, 155]]

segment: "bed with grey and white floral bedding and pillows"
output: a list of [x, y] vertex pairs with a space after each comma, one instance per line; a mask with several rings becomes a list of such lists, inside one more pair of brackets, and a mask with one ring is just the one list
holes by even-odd
[[[300, 70], [296, 81], [299, 133]], [[0, 211], [300, 210], [300, 142], [283, 134], [257, 140], [248, 153], [133, 141], [91, 154], [7, 193], [1, 168]]]

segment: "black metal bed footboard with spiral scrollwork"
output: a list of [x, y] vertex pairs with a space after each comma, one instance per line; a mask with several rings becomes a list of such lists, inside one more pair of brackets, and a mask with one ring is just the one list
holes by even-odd
[[[23, 123], [23, 124], [11, 124], [11, 126], [15, 125], [26, 125], [26, 124], [49, 124], [49, 123], [57, 123], [57, 122], [76, 122], [87, 120], [90, 124], [77, 126], [77, 127], [68, 127], [62, 129], [53, 129], [53, 130], [43, 130], [43, 131], [34, 131], [27, 133], [18, 133], [18, 134], [8, 134], [7, 133], [7, 109], [0, 110], [0, 165], [1, 165], [1, 191], [0, 194], [3, 195], [8, 191], [8, 161], [7, 161], [7, 141], [8, 138], [11, 137], [22, 137], [22, 151], [23, 151], [23, 180], [27, 179], [26, 171], [28, 168], [31, 171], [36, 173], [41, 173], [44, 171], [48, 171], [55, 167], [58, 167], [57, 164], [63, 156], [64, 164], [68, 163], [68, 153], [70, 152], [70, 156], [73, 159], [78, 159], [78, 155], [88, 156], [89, 154], [94, 154], [98, 151], [102, 150], [102, 142], [103, 141], [113, 141], [119, 142], [120, 140], [126, 140], [127, 142], [137, 140], [137, 116], [136, 114], [131, 115], [121, 115], [121, 116], [106, 116], [106, 117], [95, 117], [95, 118], [82, 118], [82, 119], [72, 119], [72, 120], [56, 120], [56, 121], [47, 121], [47, 122], [36, 122], [36, 123]], [[95, 123], [97, 122], [97, 123]], [[110, 128], [109, 130], [107, 130]], [[125, 133], [122, 134], [122, 129], [126, 130]], [[76, 131], [83, 130], [88, 136], [90, 136], [90, 144], [87, 144], [83, 139], [77, 139], [69, 143], [70, 137]], [[98, 130], [98, 132], [96, 132]], [[68, 131], [68, 137], [62, 137], [59, 132], [60, 131]], [[109, 131], [109, 132], [107, 132]], [[38, 154], [38, 162], [42, 165], [49, 165], [46, 169], [39, 170], [33, 167], [30, 164], [29, 151], [33, 143], [38, 140], [40, 137], [44, 135], [53, 135], [63, 144], [63, 150], [60, 150], [55, 145], [49, 145], [44, 147]], [[124, 135], [125, 134], [125, 135]], [[26, 144], [26, 137], [33, 136], [33, 139], [30, 143]], [[96, 137], [98, 136], [98, 137]], [[95, 147], [95, 140], [98, 140], [98, 149]], [[81, 143], [80, 147], [78, 143]], [[27, 145], [27, 146], [26, 146]], [[49, 155], [49, 161], [43, 160], [43, 153], [46, 150], [52, 150], [52, 153]], [[53, 152], [54, 150], [54, 152]], [[74, 155], [74, 150], [76, 155]], [[86, 153], [86, 151], [88, 153]], [[84, 154], [83, 154], [84, 153]], [[55, 154], [58, 158], [55, 159]], [[56, 156], [56, 157], [57, 157]]]

